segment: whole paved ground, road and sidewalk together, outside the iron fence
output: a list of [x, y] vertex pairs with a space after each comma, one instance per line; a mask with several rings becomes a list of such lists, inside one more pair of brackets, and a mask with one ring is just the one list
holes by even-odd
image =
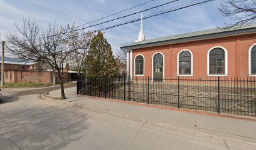
[[[4, 89], [6, 101], [0, 104], [0, 149], [256, 149], [252, 121], [228, 119], [251, 129], [250, 133], [235, 131], [237, 136], [232, 136], [232, 129], [240, 129], [236, 124], [228, 124], [230, 131], [224, 134], [216, 129], [208, 131], [206, 127], [217, 121], [216, 117], [201, 115], [203, 121], [208, 119], [203, 126], [196, 116], [199, 114], [193, 114], [187, 121], [189, 126], [185, 126], [182, 116], [189, 113], [91, 99], [77, 96], [74, 89], [65, 89], [68, 99], [62, 102], [67, 103], [38, 97], [52, 88]], [[58, 90], [48, 96], [58, 97]], [[70, 101], [73, 104], [68, 104]], [[75, 106], [80, 101], [84, 101], [80, 105], [84, 107]], [[168, 119], [176, 119], [177, 112], [181, 124]], [[195, 118], [199, 123], [192, 128]]]

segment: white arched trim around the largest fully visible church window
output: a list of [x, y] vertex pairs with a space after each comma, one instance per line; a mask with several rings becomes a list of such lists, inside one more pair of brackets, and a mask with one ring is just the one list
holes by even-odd
[[[210, 51], [215, 48], [221, 48], [225, 53], [225, 74], [210, 74]], [[214, 46], [214, 47], [211, 47], [211, 49], [209, 49], [207, 53], [207, 76], [228, 76], [228, 51], [227, 49], [225, 49], [225, 47]]]

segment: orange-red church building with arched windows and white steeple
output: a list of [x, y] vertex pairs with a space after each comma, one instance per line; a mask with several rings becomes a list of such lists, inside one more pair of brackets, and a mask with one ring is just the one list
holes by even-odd
[[256, 76], [256, 24], [145, 40], [142, 20], [127, 50], [127, 76], [228, 78]]

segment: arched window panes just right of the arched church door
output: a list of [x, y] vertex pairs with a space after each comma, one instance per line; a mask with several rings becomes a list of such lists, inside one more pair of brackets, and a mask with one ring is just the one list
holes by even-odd
[[181, 51], [178, 55], [179, 75], [190, 75], [191, 71], [191, 53], [189, 51]]

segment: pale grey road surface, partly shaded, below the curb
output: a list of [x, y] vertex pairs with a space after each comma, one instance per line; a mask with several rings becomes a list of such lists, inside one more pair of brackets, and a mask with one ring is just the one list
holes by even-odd
[[0, 149], [255, 149], [38, 98], [51, 89], [4, 89]]

